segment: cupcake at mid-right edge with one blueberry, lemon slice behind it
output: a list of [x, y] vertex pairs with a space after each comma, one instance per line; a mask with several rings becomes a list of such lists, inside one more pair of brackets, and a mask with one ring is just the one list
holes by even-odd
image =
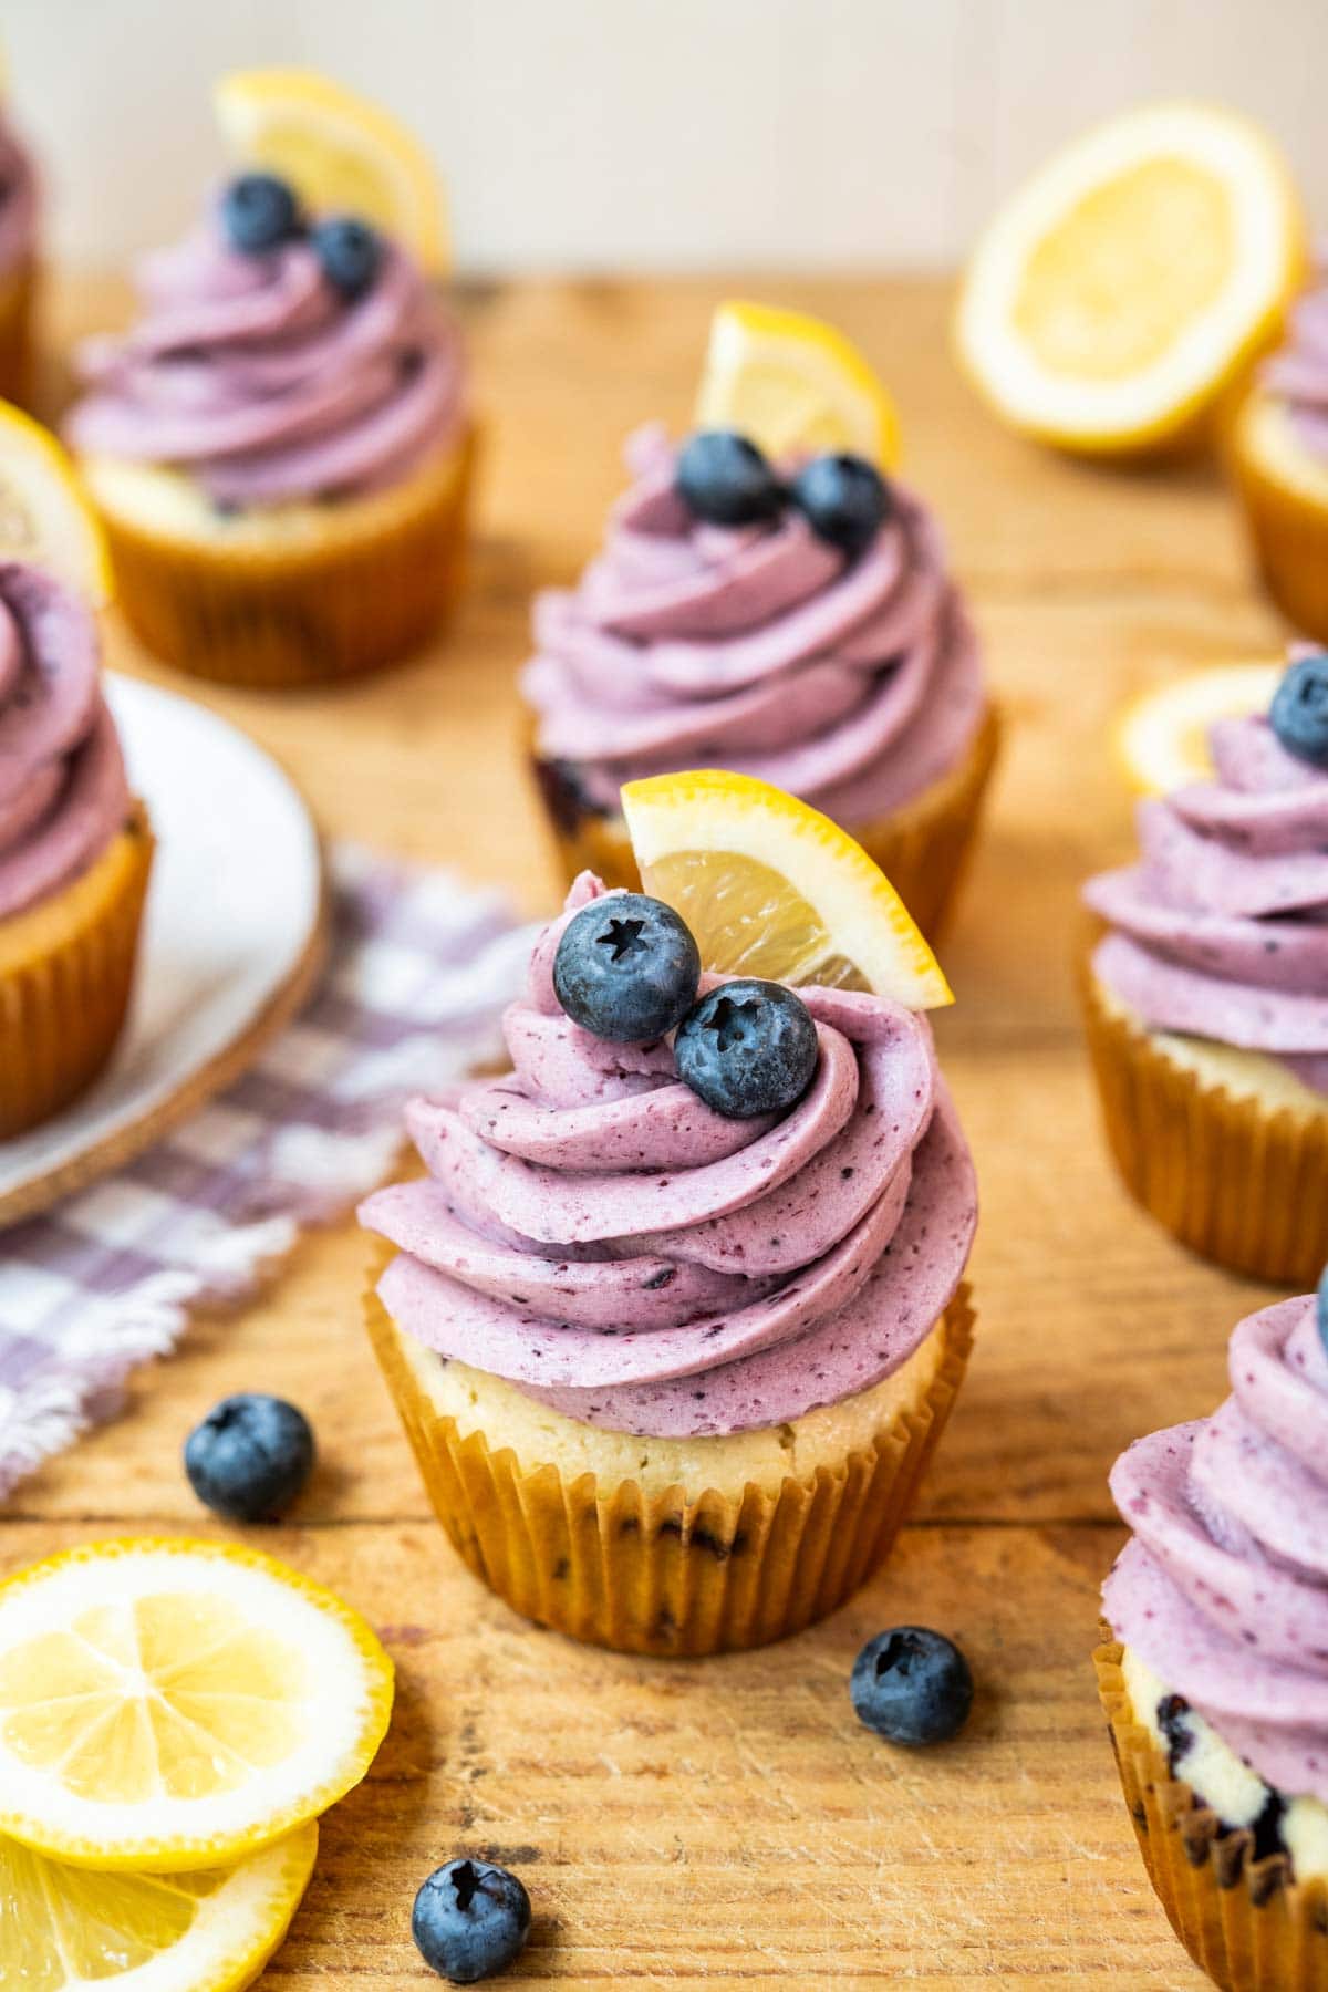
[[1131, 1195], [1181, 1243], [1310, 1285], [1328, 1259], [1328, 657], [1218, 719], [1215, 777], [1139, 807], [1085, 886], [1089, 1050]]

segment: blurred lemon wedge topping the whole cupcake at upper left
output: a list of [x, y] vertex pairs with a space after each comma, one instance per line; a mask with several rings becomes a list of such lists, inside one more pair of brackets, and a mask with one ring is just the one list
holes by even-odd
[[430, 275], [448, 267], [438, 173], [388, 112], [313, 70], [239, 70], [213, 102], [245, 165], [281, 173], [315, 213], [372, 221]]

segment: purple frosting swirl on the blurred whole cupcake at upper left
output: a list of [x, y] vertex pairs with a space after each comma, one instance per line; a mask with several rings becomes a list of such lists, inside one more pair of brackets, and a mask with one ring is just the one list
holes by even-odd
[[307, 241], [229, 247], [219, 209], [139, 271], [143, 315], [88, 341], [68, 434], [90, 456], [189, 470], [221, 506], [358, 496], [460, 434], [460, 333], [390, 245], [342, 297]]

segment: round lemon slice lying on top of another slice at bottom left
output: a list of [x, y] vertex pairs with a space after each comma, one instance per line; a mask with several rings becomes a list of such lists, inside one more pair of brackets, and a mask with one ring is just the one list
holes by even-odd
[[392, 1663], [255, 1550], [102, 1542], [0, 1584], [0, 1835], [78, 1867], [229, 1867], [364, 1777]]

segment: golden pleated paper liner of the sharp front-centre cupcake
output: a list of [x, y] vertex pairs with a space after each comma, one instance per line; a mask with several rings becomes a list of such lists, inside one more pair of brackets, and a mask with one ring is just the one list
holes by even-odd
[[[376, 1255], [374, 1277], [390, 1251]], [[452, 1546], [540, 1625], [619, 1653], [699, 1657], [767, 1645], [844, 1604], [886, 1558], [950, 1416], [974, 1337], [962, 1287], [934, 1333], [944, 1353], [916, 1402], [836, 1470], [741, 1496], [524, 1470], [498, 1434], [462, 1436], [402, 1353], [378, 1295], [368, 1335]]]

